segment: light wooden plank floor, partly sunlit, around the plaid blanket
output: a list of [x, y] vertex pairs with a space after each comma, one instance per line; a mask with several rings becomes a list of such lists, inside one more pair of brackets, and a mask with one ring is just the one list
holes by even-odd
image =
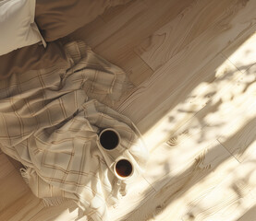
[[[256, 220], [255, 0], [133, 0], [68, 38], [127, 71], [115, 109], [151, 151], [110, 220]], [[75, 220], [75, 204], [44, 208], [0, 158], [0, 220]]]

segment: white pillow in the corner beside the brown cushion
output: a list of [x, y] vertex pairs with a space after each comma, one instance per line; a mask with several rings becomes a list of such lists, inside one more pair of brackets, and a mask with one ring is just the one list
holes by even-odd
[[43, 41], [34, 15], [35, 0], [0, 1], [0, 55]]

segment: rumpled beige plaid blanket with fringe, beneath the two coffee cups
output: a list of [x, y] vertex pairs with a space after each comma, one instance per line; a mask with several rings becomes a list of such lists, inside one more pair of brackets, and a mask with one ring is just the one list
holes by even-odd
[[[116, 157], [139, 174], [148, 152], [134, 124], [108, 107], [128, 89], [125, 73], [83, 42], [66, 52], [67, 63], [0, 82], [0, 146], [25, 166], [22, 176], [45, 204], [72, 199], [83, 218], [107, 220], [126, 184], [113, 173]], [[108, 127], [121, 135], [112, 156], [97, 144]]]

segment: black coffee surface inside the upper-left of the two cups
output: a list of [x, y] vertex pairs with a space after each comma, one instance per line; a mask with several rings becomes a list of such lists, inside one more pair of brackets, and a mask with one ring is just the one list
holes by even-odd
[[119, 138], [114, 131], [105, 131], [100, 137], [100, 143], [105, 149], [114, 149], [118, 145]]

